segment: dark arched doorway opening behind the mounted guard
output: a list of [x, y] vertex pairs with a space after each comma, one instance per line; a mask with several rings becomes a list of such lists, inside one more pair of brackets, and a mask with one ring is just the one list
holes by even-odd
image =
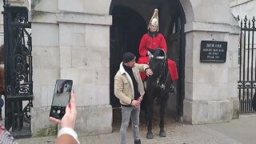
[[114, 75], [122, 62], [122, 54], [126, 51], [138, 54], [139, 42], [146, 34], [148, 22], [154, 12], [159, 10], [159, 32], [166, 38], [168, 58], [177, 62], [179, 80], [175, 82], [177, 94], [170, 95], [167, 110], [178, 120], [182, 116], [184, 98], [184, 66], [185, 66], [185, 14], [178, 0], [112, 0], [110, 15], [113, 25], [110, 28], [110, 104], [118, 107], [118, 99], [114, 96]]

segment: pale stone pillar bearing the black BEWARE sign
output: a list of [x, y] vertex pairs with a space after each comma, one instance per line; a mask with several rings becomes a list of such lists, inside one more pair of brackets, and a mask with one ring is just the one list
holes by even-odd
[[[181, 2], [187, 20], [184, 119], [202, 124], [238, 118], [239, 27], [229, 1]], [[200, 62], [202, 40], [228, 42], [226, 62]]]

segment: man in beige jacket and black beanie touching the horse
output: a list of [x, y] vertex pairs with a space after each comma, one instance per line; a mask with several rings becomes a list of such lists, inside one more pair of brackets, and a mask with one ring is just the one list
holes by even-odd
[[148, 65], [135, 62], [134, 54], [130, 52], [123, 54], [123, 62], [121, 62], [120, 68], [114, 77], [114, 94], [120, 99], [122, 108], [121, 144], [126, 144], [126, 130], [129, 126], [130, 118], [134, 144], [141, 143], [138, 130], [141, 101], [138, 98], [142, 98], [145, 94], [140, 76], [141, 71], [145, 71], [147, 76], [153, 74]]

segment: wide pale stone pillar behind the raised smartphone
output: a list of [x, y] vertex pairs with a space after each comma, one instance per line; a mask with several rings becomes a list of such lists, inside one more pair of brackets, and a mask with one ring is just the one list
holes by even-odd
[[112, 131], [110, 106], [109, 1], [32, 1], [34, 109], [33, 135], [49, 135], [54, 83], [74, 80], [79, 135]]

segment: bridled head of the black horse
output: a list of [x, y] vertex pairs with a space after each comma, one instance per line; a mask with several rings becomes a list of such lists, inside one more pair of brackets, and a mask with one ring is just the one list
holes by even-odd
[[150, 50], [150, 53], [153, 54], [153, 56], [150, 57], [149, 65], [150, 69], [154, 71], [154, 74], [158, 74], [161, 70], [166, 69], [166, 52], [161, 48], [157, 48], [156, 50]]

